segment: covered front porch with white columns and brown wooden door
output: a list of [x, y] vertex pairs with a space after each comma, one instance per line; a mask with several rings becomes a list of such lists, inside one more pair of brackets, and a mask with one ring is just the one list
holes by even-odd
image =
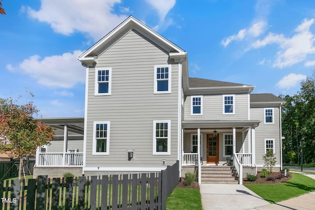
[[[235, 167], [240, 182], [243, 166], [255, 167], [255, 127], [260, 120], [183, 121], [182, 167]], [[232, 159], [232, 161], [231, 161]], [[201, 183], [201, 173], [198, 173]]]

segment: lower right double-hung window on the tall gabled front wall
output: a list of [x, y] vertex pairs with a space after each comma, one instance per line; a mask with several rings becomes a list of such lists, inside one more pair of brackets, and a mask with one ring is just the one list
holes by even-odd
[[153, 121], [153, 154], [171, 154], [171, 121]]

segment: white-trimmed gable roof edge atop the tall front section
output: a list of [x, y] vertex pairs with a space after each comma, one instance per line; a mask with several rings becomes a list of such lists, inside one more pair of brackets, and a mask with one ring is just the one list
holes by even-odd
[[83, 65], [92, 65], [93, 63], [96, 63], [97, 56], [99, 56], [102, 52], [108, 49], [132, 29], [137, 30], [142, 35], [158, 44], [158, 46], [169, 53], [170, 57], [173, 57], [174, 59], [187, 60], [187, 53], [183, 49], [132, 16], [129, 16], [115, 29], [111, 30], [92, 47], [82, 53], [77, 59], [80, 60]]

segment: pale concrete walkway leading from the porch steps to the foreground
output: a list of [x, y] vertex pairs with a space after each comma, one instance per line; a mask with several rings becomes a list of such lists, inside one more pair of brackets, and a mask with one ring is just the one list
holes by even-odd
[[277, 204], [240, 184], [200, 184], [200, 194], [203, 210], [315, 210], [315, 191]]

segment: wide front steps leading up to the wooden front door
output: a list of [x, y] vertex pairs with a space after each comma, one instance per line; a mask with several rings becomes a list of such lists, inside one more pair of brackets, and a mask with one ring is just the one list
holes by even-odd
[[238, 177], [231, 166], [202, 166], [201, 183], [238, 184]]

